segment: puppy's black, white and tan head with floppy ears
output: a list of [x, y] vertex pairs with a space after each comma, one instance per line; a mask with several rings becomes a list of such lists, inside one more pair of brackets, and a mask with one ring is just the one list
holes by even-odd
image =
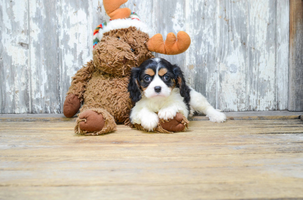
[[137, 102], [141, 96], [147, 98], [168, 97], [174, 88], [180, 88], [185, 96], [186, 87], [183, 73], [177, 65], [165, 59], [152, 58], [144, 61], [140, 67], [133, 68], [130, 75], [128, 91], [132, 101]]

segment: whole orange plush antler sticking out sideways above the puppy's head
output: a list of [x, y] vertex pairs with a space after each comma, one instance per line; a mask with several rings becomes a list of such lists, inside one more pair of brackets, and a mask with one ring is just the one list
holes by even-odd
[[162, 35], [158, 33], [148, 40], [147, 48], [156, 53], [177, 55], [186, 51], [190, 42], [190, 36], [184, 31], [179, 31], [177, 37], [173, 33], [167, 34], [165, 42]]

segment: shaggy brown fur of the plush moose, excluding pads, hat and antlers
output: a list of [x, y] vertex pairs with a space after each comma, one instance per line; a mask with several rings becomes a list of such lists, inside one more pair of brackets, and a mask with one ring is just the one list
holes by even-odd
[[[145, 60], [154, 57], [147, 49], [146, 41], [148, 39], [148, 34], [138, 31], [135, 27], [104, 34], [93, 50], [93, 61], [88, 62], [72, 77], [67, 95], [78, 96], [83, 103], [80, 112], [93, 110], [101, 113], [105, 125], [100, 131], [87, 132], [81, 130], [79, 126], [79, 123], [86, 119], [78, 117], [75, 133], [84, 135], [109, 133], [116, 129], [116, 123], [124, 123], [132, 128], [147, 131], [140, 124], [130, 124], [129, 122], [133, 104], [127, 92], [127, 84], [131, 68], [139, 67]], [[132, 52], [131, 49], [135, 51]], [[64, 114], [66, 115], [66, 113]], [[160, 120], [154, 131], [172, 133], [163, 129], [161, 122], [163, 120]], [[188, 127], [186, 118], [181, 123]]]

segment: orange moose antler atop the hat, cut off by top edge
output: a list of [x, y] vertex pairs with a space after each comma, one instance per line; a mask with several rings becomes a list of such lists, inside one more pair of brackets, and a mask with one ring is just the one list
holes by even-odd
[[106, 14], [112, 19], [128, 18], [131, 14], [129, 8], [120, 8], [128, 0], [103, 0], [103, 6]]

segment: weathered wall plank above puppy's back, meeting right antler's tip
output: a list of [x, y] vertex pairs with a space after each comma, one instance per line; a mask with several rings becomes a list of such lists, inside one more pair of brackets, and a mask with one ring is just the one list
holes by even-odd
[[183, 68], [187, 83], [214, 107], [217, 106], [216, 5], [215, 0], [185, 1], [185, 26], [191, 45], [186, 51], [186, 68]]

